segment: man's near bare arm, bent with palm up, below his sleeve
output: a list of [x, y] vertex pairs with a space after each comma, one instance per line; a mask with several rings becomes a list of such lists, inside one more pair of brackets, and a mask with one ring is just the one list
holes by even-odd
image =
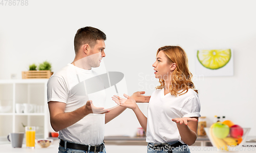
[[86, 105], [69, 113], [65, 113], [66, 103], [63, 102], [49, 101], [48, 107], [50, 111], [50, 122], [56, 132], [75, 124], [88, 114], [104, 114], [109, 112], [109, 110], [105, 110], [103, 107], [95, 107], [92, 100], [88, 100]]

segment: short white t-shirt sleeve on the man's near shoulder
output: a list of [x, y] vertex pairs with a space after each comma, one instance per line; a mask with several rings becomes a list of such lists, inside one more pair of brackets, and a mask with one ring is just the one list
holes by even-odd
[[57, 76], [52, 76], [47, 83], [47, 102], [58, 101], [67, 103], [68, 88], [65, 81]]

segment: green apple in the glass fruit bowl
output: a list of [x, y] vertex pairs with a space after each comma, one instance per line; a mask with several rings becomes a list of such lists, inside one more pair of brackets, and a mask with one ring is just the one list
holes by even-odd
[[223, 139], [226, 138], [229, 134], [229, 127], [226, 124], [222, 124], [221, 122], [214, 123], [212, 125], [212, 132], [217, 138]]

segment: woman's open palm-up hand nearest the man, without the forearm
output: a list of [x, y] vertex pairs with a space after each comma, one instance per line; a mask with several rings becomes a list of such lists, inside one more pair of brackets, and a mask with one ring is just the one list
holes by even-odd
[[134, 110], [137, 107], [136, 101], [126, 94], [123, 94], [123, 96], [127, 99], [114, 95], [114, 97], [112, 97], [112, 100], [114, 100], [119, 106], [131, 108], [132, 110]]

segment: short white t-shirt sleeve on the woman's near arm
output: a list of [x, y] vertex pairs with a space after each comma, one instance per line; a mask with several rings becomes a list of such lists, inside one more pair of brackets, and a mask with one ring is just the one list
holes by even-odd
[[201, 105], [198, 97], [189, 99], [181, 108], [182, 117], [201, 117]]

